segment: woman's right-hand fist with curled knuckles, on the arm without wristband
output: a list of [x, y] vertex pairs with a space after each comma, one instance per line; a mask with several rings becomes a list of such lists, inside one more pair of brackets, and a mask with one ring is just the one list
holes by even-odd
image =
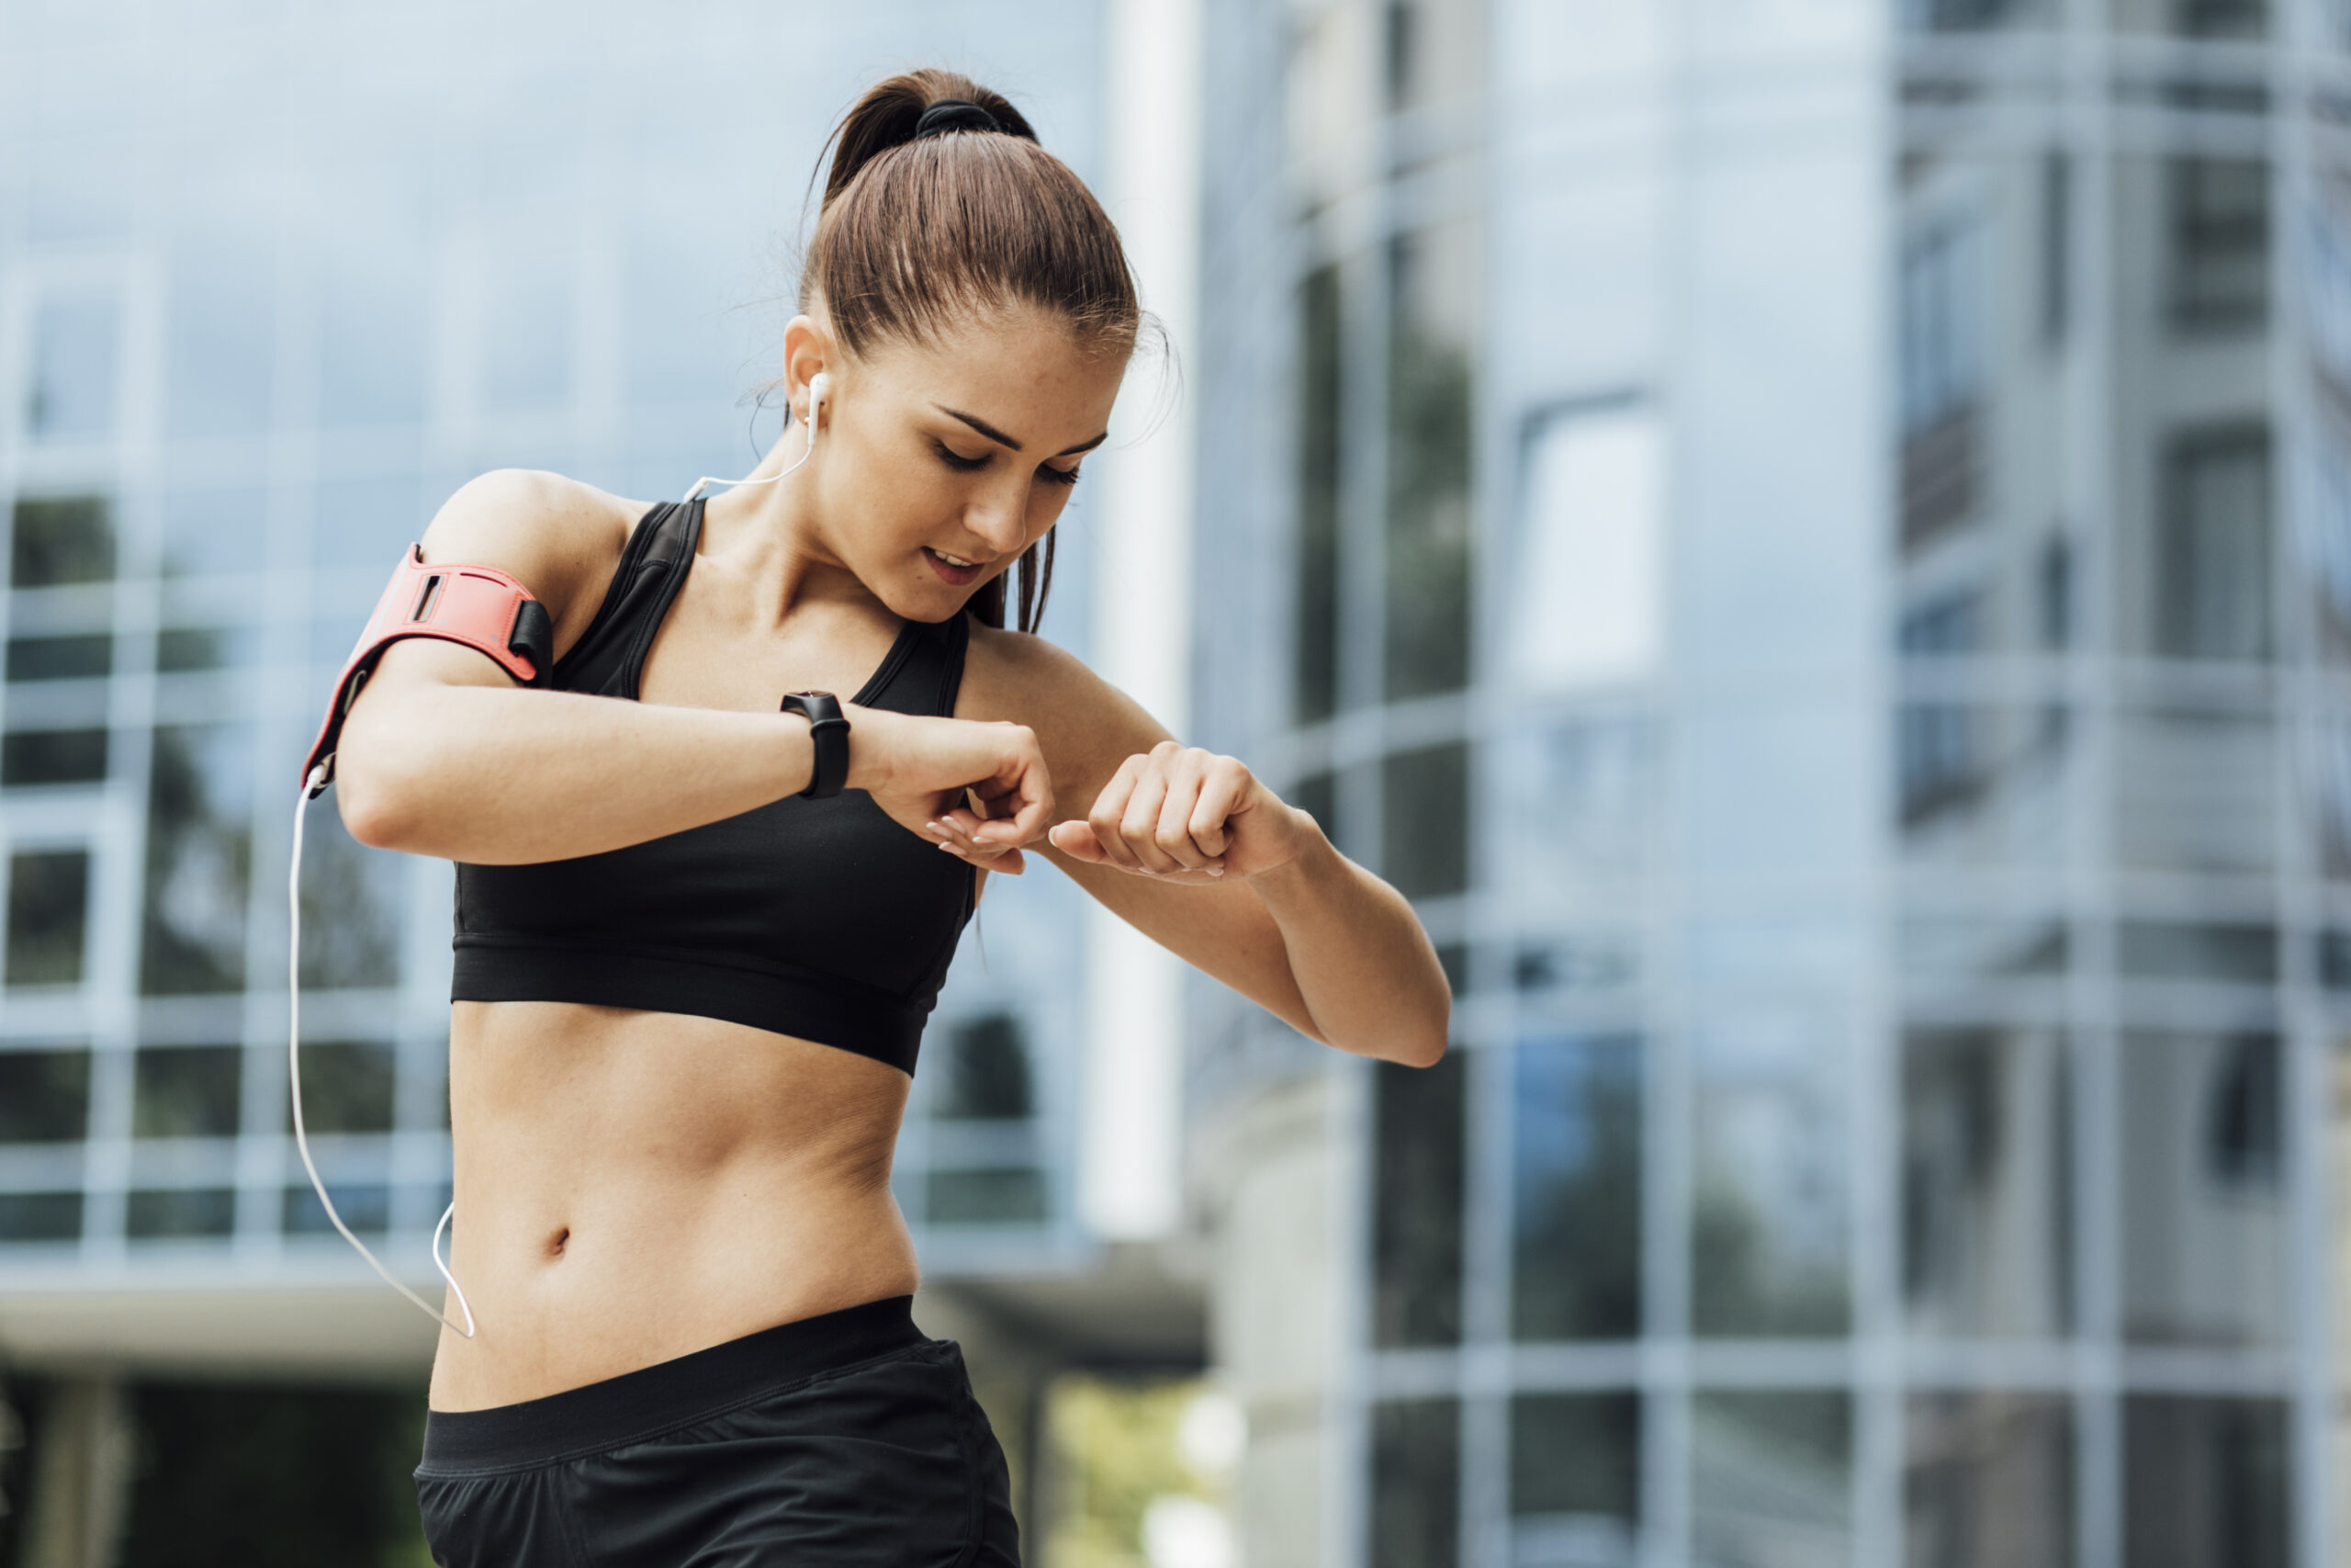
[[1119, 764], [1084, 823], [1056, 823], [1046, 837], [1089, 865], [1208, 884], [1288, 865], [1314, 832], [1314, 818], [1232, 757], [1161, 741]]

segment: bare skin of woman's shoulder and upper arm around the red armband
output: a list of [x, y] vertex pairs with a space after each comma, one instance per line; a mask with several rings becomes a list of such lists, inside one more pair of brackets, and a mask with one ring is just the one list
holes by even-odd
[[[604, 491], [552, 473], [501, 468], [468, 480], [435, 512], [421, 541], [426, 564], [496, 567], [545, 607], [562, 654], [595, 618], [604, 583], [628, 543], [630, 512]], [[402, 637], [383, 649], [336, 743], [346, 811], [367, 792], [381, 719], [397, 696], [428, 686], [513, 686], [491, 658], [440, 637]]]

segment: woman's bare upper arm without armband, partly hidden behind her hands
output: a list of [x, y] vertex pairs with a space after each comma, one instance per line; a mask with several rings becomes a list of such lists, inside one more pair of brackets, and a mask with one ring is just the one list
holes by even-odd
[[[1053, 776], [1056, 820], [1084, 818], [1128, 757], [1173, 738], [1143, 703], [1041, 637], [973, 628], [971, 646], [969, 698], [957, 703], [957, 717], [1016, 719], [1037, 731]], [[1051, 844], [1030, 853], [1044, 853], [1096, 903], [1176, 957], [1321, 1039], [1291, 973], [1281, 929], [1246, 882], [1157, 882], [1077, 860]]]

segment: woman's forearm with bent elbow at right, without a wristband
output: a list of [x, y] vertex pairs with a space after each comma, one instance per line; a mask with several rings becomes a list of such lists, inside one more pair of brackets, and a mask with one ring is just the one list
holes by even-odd
[[1291, 978], [1326, 1041], [1411, 1067], [1444, 1056], [1453, 992], [1396, 889], [1321, 832], [1248, 884], [1281, 929]]

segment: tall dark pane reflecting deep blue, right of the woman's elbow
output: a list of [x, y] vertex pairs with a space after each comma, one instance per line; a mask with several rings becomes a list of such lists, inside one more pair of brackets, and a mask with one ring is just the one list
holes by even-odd
[[1641, 1333], [1641, 1041], [1519, 1046], [1512, 1335]]

